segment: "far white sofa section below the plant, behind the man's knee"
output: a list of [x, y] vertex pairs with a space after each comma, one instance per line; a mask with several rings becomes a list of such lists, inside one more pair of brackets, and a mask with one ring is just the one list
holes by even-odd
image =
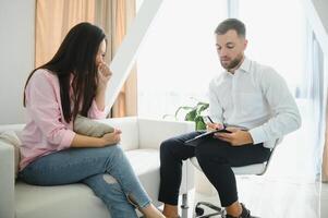
[[159, 149], [162, 141], [195, 131], [195, 123], [138, 118], [138, 130], [139, 148]]

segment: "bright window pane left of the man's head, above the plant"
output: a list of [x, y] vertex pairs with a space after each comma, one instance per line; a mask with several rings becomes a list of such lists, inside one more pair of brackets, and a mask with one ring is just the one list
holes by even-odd
[[[226, 1], [165, 0], [137, 57], [138, 116], [161, 118], [205, 99], [220, 72], [214, 31]], [[206, 12], [206, 13], [204, 13]]]

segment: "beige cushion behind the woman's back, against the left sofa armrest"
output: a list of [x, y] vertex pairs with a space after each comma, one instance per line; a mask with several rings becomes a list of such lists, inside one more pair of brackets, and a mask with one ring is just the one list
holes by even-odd
[[5, 143], [12, 145], [15, 150], [15, 178], [17, 178], [19, 173], [19, 165], [20, 165], [20, 146], [22, 145], [20, 138], [17, 137], [14, 131], [4, 131], [0, 133], [0, 140]]

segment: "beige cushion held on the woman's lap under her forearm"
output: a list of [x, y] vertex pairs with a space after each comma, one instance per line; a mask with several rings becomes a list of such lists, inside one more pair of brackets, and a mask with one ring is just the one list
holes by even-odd
[[74, 121], [74, 132], [93, 137], [101, 137], [106, 133], [113, 132], [114, 129], [109, 124], [92, 120], [89, 118], [77, 114]]

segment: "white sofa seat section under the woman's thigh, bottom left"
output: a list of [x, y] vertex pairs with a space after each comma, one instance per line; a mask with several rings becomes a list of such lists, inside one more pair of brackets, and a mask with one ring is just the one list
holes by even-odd
[[24, 182], [15, 185], [16, 218], [108, 218], [101, 199], [84, 184], [36, 186]]

